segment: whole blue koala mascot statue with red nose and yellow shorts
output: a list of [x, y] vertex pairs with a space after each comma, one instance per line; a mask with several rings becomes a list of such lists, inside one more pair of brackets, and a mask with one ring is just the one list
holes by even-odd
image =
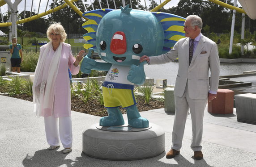
[[[104, 106], [108, 116], [100, 119], [101, 126], [124, 125], [119, 110], [127, 111], [128, 125], [135, 128], [149, 127], [149, 121], [141, 117], [134, 95], [134, 84], [145, 81], [141, 56], [155, 56], [171, 50], [183, 38], [185, 19], [168, 13], [151, 13], [120, 7], [119, 10], [98, 9], [83, 16], [89, 18], [82, 26], [84, 45], [89, 53], [81, 63], [81, 71], [108, 71], [102, 85]], [[90, 56], [97, 52], [106, 63], [96, 62]]]

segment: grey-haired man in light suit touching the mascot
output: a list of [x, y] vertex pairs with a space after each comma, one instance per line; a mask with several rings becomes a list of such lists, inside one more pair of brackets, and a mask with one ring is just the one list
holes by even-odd
[[[166, 54], [148, 57], [140, 61], [151, 64], [163, 64], [179, 58], [179, 71], [175, 84], [175, 120], [172, 132], [172, 148], [166, 154], [167, 159], [179, 154], [184, 134], [188, 109], [192, 119], [192, 142], [194, 159], [203, 159], [202, 134], [203, 117], [207, 100], [217, 96], [219, 81], [218, 47], [215, 42], [201, 34], [202, 19], [190, 15], [184, 23], [185, 36]], [[211, 79], [209, 81], [209, 69]]]

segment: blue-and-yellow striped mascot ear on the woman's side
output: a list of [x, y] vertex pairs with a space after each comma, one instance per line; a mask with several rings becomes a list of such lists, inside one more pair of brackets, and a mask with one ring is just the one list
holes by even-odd
[[83, 14], [84, 17], [89, 19], [82, 25], [82, 27], [88, 31], [88, 33], [85, 33], [83, 36], [87, 41], [87, 43], [84, 45], [85, 49], [96, 49], [96, 32], [98, 29], [98, 24], [102, 17], [112, 10], [114, 9], [97, 9]]

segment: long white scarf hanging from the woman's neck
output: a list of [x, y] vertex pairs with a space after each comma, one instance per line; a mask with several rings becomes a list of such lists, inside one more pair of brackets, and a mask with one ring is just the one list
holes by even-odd
[[[46, 80], [42, 80], [43, 77], [43, 67], [46, 62], [46, 58], [50, 53], [50, 49], [52, 47], [52, 42], [47, 43], [43, 51], [40, 51], [38, 63], [34, 73], [34, 82], [33, 82], [33, 103], [34, 103], [34, 112], [36, 112], [36, 117], [41, 116], [41, 105], [43, 105], [43, 109], [51, 109], [53, 107], [54, 101], [54, 84], [55, 79], [57, 77], [57, 73], [59, 71], [60, 66], [60, 57], [62, 50], [62, 42], [60, 42], [60, 46], [57, 48], [55, 53], [53, 54], [53, 58], [51, 60], [48, 75]], [[43, 103], [43, 104], [42, 104]]]

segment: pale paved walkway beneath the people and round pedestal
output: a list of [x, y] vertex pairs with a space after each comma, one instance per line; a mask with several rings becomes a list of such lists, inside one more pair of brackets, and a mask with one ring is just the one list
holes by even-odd
[[0, 167], [256, 167], [256, 125], [237, 122], [235, 109], [225, 116], [205, 111], [203, 160], [192, 158], [190, 116], [180, 155], [165, 158], [171, 148], [174, 115], [155, 109], [141, 115], [165, 130], [165, 152], [150, 159], [108, 161], [82, 152], [82, 132], [100, 117], [72, 112], [73, 151], [62, 154], [62, 146], [47, 150], [43, 118], [32, 113], [32, 102], [0, 96], [0, 108]]

